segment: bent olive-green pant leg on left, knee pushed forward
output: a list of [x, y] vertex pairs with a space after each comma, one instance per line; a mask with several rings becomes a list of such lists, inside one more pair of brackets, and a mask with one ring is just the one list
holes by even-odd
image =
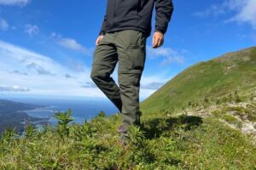
[[118, 56], [113, 44], [113, 34], [107, 33], [99, 45], [96, 46], [90, 77], [121, 112], [120, 90], [113, 78], [110, 77], [117, 62]]

